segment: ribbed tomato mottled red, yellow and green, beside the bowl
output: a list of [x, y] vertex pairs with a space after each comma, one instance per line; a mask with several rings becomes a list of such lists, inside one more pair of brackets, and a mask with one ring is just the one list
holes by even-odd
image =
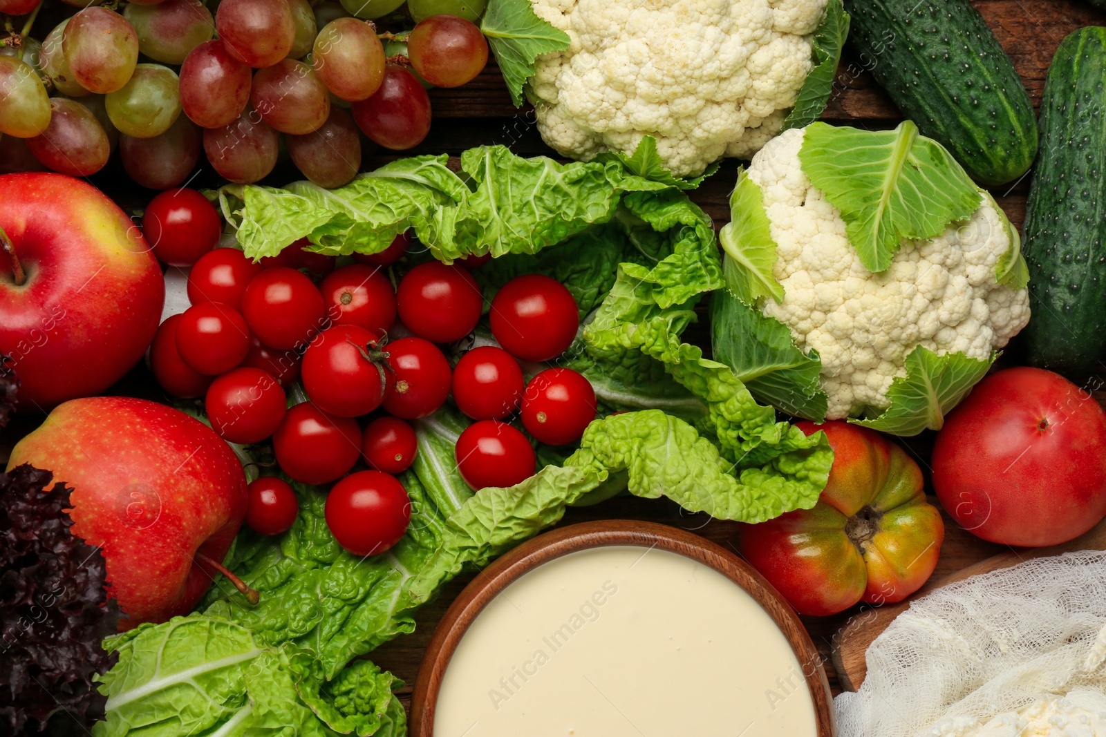
[[741, 555], [801, 614], [836, 614], [862, 599], [901, 601], [937, 567], [945, 523], [926, 502], [921, 471], [901, 448], [847, 422], [822, 430], [834, 452], [812, 509], [741, 526]]

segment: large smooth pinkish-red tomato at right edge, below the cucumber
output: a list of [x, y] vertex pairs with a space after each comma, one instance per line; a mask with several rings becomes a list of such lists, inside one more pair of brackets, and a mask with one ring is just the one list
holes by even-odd
[[1066, 543], [1106, 516], [1106, 412], [1052, 371], [992, 373], [937, 435], [933, 489], [984, 540]]

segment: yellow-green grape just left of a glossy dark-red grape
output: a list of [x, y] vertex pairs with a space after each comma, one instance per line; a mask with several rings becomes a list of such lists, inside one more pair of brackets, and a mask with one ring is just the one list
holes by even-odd
[[160, 64], [138, 64], [131, 80], [104, 102], [119, 133], [135, 138], [159, 136], [180, 115], [177, 74]]

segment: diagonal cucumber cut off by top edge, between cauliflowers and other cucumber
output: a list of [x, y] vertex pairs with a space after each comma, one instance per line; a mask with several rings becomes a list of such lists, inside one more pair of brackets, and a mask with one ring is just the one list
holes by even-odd
[[845, 0], [849, 45], [924, 136], [975, 181], [1018, 179], [1036, 156], [1033, 105], [968, 0]]

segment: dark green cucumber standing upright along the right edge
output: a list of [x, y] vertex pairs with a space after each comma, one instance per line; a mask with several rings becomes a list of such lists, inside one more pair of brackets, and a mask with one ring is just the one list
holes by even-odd
[[1027, 362], [1068, 378], [1106, 349], [1106, 28], [1060, 44], [1041, 99], [1041, 160], [1025, 204], [1022, 253], [1033, 318]]

